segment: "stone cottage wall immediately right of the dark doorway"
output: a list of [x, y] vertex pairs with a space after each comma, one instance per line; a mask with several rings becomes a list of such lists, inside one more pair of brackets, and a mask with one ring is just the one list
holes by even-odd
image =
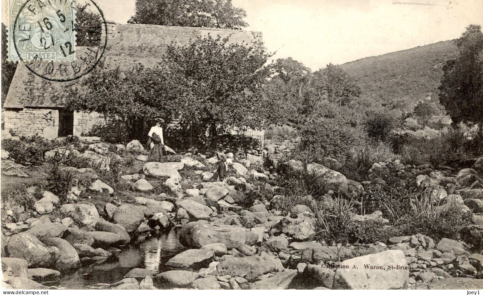
[[119, 117], [98, 112], [74, 112], [76, 136], [99, 136], [107, 141], [119, 141], [127, 137], [128, 127]]

